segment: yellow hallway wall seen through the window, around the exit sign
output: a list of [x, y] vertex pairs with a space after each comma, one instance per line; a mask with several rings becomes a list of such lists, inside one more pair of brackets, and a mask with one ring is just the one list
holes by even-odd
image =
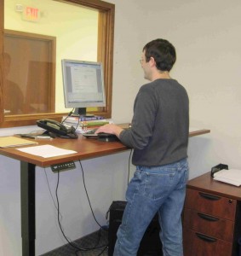
[[[23, 20], [23, 8], [39, 9], [37, 22]], [[97, 60], [98, 12], [53, 0], [4, 2], [4, 28], [56, 37], [56, 112], [66, 112], [62, 89], [61, 59]]]

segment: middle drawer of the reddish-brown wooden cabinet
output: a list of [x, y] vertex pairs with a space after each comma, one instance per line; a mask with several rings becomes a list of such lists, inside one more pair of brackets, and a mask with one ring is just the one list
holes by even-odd
[[185, 208], [184, 226], [205, 235], [232, 242], [234, 222], [231, 220]]

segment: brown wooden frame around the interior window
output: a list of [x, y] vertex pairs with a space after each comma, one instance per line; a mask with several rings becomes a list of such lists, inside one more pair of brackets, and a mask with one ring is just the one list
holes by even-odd
[[[6, 0], [5, 0], [6, 1]], [[104, 67], [104, 80], [106, 85], [106, 107], [101, 111], [93, 112], [105, 118], [112, 117], [112, 66], [113, 66], [113, 40], [115, 5], [100, 0], [53, 0], [62, 3], [73, 3], [99, 11], [98, 49], [97, 61]], [[37, 119], [55, 119], [60, 121], [66, 113], [37, 113], [4, 115], [3, 108], [3, 52], [4, 45], [4, 0], [0, 0], [0, 127], [14, 127], [36, 125]]]

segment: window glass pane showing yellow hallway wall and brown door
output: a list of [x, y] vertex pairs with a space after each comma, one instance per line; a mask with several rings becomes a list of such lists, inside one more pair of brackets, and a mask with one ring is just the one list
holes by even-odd
[[[32, 34], [32, 38], [46, 37], [47, 42], [49, 37], [55, 38], [53, 49], [53, 44], [42, 45], [44, 39], [30, 45], [18, 44], [20, 38], [4, 37], [8, 40], [4, 51], [9, 55], [4, 64], [9, 65], [5, 73], [5, 114], [68, 111], [61, 60], [97, 61], [98, 11], [53, 0], [5, 0], [4, 28]], [[51, 87], [53, 84], [55, 88]], [[55, 96], [52, 98], [51, 94]]]

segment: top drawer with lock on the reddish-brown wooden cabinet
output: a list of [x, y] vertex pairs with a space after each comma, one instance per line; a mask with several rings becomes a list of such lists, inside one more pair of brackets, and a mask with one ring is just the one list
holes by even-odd
[[187, 208], [216, 217], [234, 220], [237, 201], [227, 197], [186, 189]]

